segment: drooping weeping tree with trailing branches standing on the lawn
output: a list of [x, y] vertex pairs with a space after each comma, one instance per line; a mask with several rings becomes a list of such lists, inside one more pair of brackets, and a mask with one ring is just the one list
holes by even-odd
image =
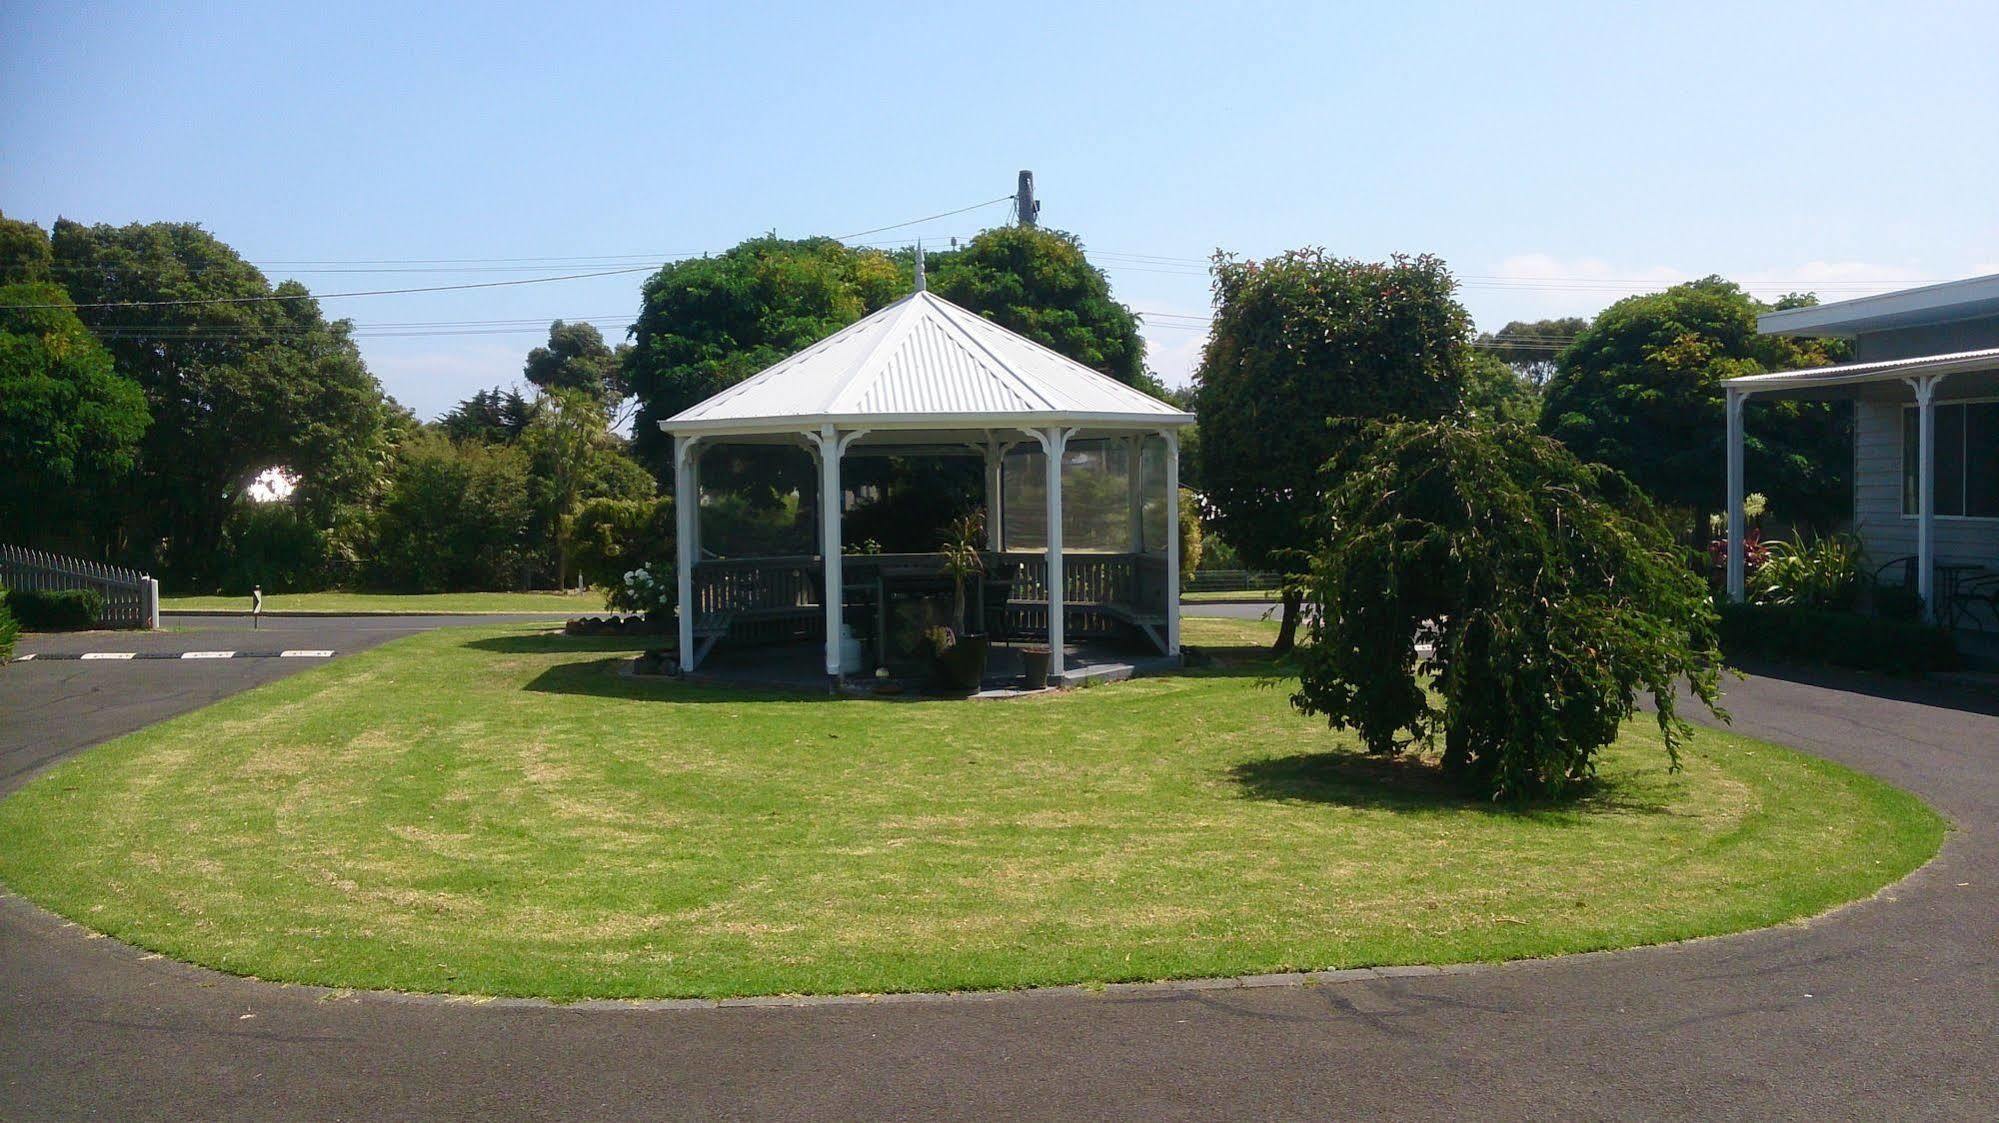
[[1325, 480], [1299, 709], [1373, 753], [1441, 733], [1445, 775], [1531, 799], [1589, 777], [1645, 691], [1677, 765], [1675, 683], [1719, 697], [1715, 613], [1637, 488], [1461, 422], [1369, 426]]

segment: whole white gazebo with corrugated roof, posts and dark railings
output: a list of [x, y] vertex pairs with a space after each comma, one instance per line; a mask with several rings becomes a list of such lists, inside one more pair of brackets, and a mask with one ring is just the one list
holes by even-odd
[[[1025, 631], [1045, 635], [1051, 679], [1063, 669], [1071, 619], [1121, 621], [1179, 655], [1179, 430], [1193, 416], [924, 290], [820, 340], [796, 356], [692, 406], [660, 428], [674, 438], [678, 516], [680, 667], [696, 669], [730, 627], [762, 615], [792, 621], [824, 613], [826, 673], [842, 673], [842, 623], [850, 569], [880, 569], [878, 556], [842, 556], [852, 456], [980, 456], [986, 462], [988, 562], [1019, 569], [1013, 595]], [[818, 462], [816, 558], [708, 560], [700, 542], [700, 458], [720, 444], [796, 446]], [[1039, 450], [1045, 476], [1045, 544], [1005, 542], [1007, 454]], [[1121, 448], [1119, 448], [1121, 446]], [[1061, 468], [1071, 450], [1119, 448], [1129, 478], [1125, 550], [1063, 550]], [[1145, 542], [1143, 456], [1163, 460], [1165, 534]], [[1105, 454], [1107, 456], [1107, 454]], [[1011, 458], [1019, 472], [1023, 456]], [[1107, 462], [1107, 460], [1105, 460]], [[1159, 496], [1151, 496], [1159, 500]], [[920, 563], [928, 556], [898, 556]], [[886, 593], [884, 593], [886, 597]], [[818, 601], [818, 603], [814, 603]], [[816, 611], [812, 611], [816, 609]], [[820, 619], [810, 621], [814, 629]]]

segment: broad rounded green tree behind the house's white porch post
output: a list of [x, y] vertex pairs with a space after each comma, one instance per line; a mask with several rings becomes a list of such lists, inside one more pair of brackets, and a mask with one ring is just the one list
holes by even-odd
[[[1727, 466], [1721, 382], [1847, 354], [1841, 342], [1759, 336], [1755, 318], [1767, 310], [1713, 276], [1619, 300], [1561, 352], [1541, 432], [1623, 472], [1659, 504], [1719, 510]], [[1851, 408], [1759, 402], [1745, 424], [1745, 470], [1775, 514], [1817, 528], [1849, 514]]]

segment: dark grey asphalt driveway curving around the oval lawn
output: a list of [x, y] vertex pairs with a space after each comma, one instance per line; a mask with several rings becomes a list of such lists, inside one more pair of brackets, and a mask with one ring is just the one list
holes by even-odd
[[[10, 775], [226, 693], [72, 681], [16, 721], [18, 671], [50, 667], [0, 671]], [[286, 989], [4, 897], [0, 1117], [1999, 1115], [1999, 707], [1789, 673], [1729, 705], [1931, 799], [1943, 855], [1811, 923], [1463, 975], [704, 1011]]]

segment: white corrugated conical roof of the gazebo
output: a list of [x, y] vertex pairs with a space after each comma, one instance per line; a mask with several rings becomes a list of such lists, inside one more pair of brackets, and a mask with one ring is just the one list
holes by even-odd
[[674, 436], [776, 436], [834, 426], [882, 440], [890, 432], [1191, 424], [1193, 414], [918, 290], [660, 428]]

